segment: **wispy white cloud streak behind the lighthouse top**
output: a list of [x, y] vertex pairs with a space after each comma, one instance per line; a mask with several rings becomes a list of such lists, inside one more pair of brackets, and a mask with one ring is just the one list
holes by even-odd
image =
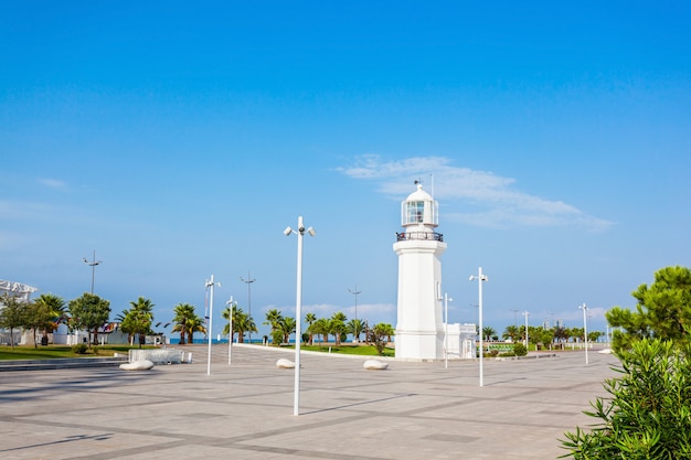
[[580, 226], [604, 231], [612, 222], [598, 218], [562, 201], [530, 195], [515, 189], [515, 180], [486, 171], [459, 168], [445, 157], [415, 157], [383, 161], [380, 156], [357, 157], [353, 164], [338, 169], [353, 179], [376, 182], [378, 191], [401, 197], [411, 192], [411, 178], [428, 182], [434, 174], [434, 195], [448, 204], [464, 203], [464, 211], [446, 212], [445, 218], [482, 227]]

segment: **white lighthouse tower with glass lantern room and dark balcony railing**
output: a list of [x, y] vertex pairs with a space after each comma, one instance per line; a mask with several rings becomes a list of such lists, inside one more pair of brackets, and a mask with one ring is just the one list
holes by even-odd
[[[417, 182], [416, 182], [417, 183]], [[417, 183], [401, 204], [403, 232], [393, 250], [398, 256], [396, 357], [437, 360], [444, 355], [442, 263], [446, 249], [438, 226], [438, 204]]]

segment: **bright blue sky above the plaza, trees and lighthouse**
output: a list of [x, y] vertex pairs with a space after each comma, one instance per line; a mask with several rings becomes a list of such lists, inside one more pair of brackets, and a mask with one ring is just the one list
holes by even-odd
[[[451, 322], [604, 311], [689, 266], [691, 6], [0, 4], [0, 278], [156, 319], [230, 296], [395, 325], [400, 202], [434, 186]], [[262, 327], [261, 333], [266, 333]]]

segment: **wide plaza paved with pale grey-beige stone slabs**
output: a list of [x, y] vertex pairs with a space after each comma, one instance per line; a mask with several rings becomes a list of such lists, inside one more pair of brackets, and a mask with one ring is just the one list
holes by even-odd
[[2, 459], [554, 459], [564, 431], [605, 394], [618, 363], [562, 353], [478, 363], [302, 354], [300, 415], [293, 415], [293, 354], [206, 346], [192, 364], [0, 373]]

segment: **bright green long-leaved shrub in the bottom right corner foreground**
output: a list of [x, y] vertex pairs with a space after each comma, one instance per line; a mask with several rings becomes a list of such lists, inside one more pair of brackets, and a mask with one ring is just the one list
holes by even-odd
[[566, 432], [562, 456], [585, 459], [691, 458], [691, 346], [642, 339], [618, 354], [619, 378], [584, 414], [599, 420], [591, 431]]

